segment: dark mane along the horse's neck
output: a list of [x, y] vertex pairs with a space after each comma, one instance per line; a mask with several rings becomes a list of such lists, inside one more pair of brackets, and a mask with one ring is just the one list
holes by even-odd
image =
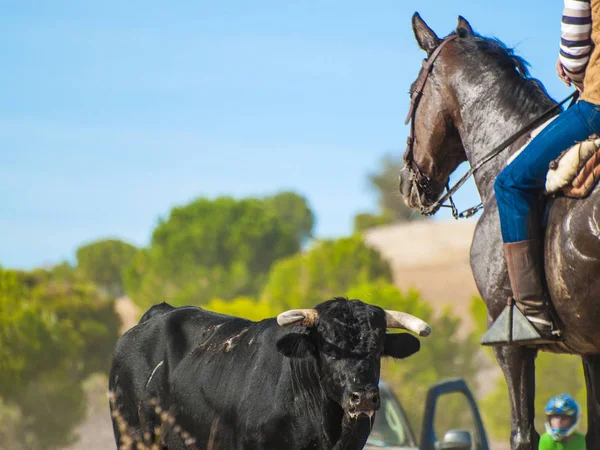
[[456, 42], [469, 67], [481, 69], [470, 70], [467, 76], [474, 77], [473, 81], [492, 76], [495, 83], [505, 87], [502, 107], [535, 114], [556, 104], [542, 83], [530, 76], [529, 63], [499, 39], [475, 33], [461, 36]]

